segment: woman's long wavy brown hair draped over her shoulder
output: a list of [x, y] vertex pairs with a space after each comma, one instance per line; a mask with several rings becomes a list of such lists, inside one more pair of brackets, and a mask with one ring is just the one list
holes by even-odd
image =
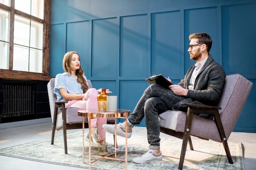
[[[70, 75], [71, 75], [70, 63], [72, 61], [73, 54], [77, 54], [79, 56], [79, 54], [75, 51], [67, 52], [64, 55], [63, 62], [62, 62], [63, 70], [65, 72], [67, 72], [67, 74], [70, 74]], [[85, 93], [88, 90], [88, 85], [86, 84], [85, 78], [83, 77], [84, 72], [83, 72], [83, 69], [81, 67], [81, 62], [80, 62], [79, 69], [76, 70], [76, 76], [77, 76], [77, 82], [81, 84], [81, 87], [83, 89], [83, 93]]]

